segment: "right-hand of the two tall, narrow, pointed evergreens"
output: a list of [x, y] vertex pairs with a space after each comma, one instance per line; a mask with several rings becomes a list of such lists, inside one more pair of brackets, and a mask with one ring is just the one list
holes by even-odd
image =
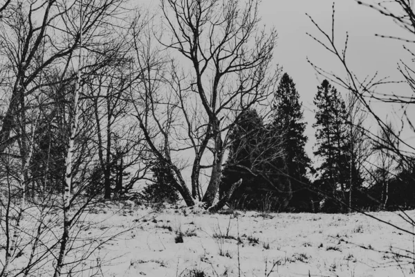
[[317, 139], [314, 154], [322, 158], [322, 164], [317, 168], [320, 178], [316, 184], [332, 197], [337, 197], [341, 193], [343, 200], [346, 200], [346, 185], [350, 179], [350, 140], [346, 105], [337, 89], [327, 80], [317, 87], [314, 104], [317, 107], [316, 123], [313, 124]]

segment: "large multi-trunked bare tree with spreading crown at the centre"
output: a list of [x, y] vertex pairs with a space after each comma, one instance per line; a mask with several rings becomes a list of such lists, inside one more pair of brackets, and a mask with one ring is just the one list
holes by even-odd
[[[258, 4], [163, 0], [164, 33], [156, 38], [167, 47], [165, 57], [157, 57], [154, 48], [149, 51], [150, 40], [142, 44], [134, 39], [143, 80], [136, 116], [151, 152], [172, 168], [189, 206], [198, 199], [212, 207], [230, 129], [243, 111], [268, 100], [276, 86], [279, 70], [272, 61], [277, 33], [259, 28]], [[167, 53], [180, 53], [184, 65], [170, 62]], [[192, 193], [172, 155], [187, 150], [193, 152]], [[204, 169], [210, 176], [203, 193]]]

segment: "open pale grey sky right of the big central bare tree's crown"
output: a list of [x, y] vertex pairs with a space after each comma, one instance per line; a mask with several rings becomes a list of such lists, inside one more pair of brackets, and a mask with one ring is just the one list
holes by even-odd
[[[315, 122], [313, 98], [317, 86], [324, 79], [316, 75], [306, 58], [328, 71], [342, 71], [338, 60], [306, 35], [311, 33], [324, 41], [324, 37], [313, 26], [306, 13], [311, 15], [321, 28], [330, 31], [332, 5], [333, 0], [263, 0], [260, 7], [264, 24], [275, 26], [279, 33], [275, 61], [291, 75], [303, 102], [304, 116], [308, 123], [306, 135], [309, 137], [306, 148], [310, 155], [315, 143], [315, 131], [311, 127]], [[338, 46], [344, 44], [345, 34], [349, 32], [349, 64], [360, 78], [379, 71], [381, 76], [391, 76], [394, 80], [401, 79], [396, 69], [397, 62], [410, 58], [403, 50], [403, 43], [375, 36], [375, 33], [407, 35], [405, 30], [396, 26], [391, 19], [371, 8], [358, 5], [355, 0], [338, 0], [335, 1], [335, 31]], [[346, 91], [342, 93], [345, 96]], [[383, 115], [392, 111], [389, 105], [375, 105], [378, 112]]]

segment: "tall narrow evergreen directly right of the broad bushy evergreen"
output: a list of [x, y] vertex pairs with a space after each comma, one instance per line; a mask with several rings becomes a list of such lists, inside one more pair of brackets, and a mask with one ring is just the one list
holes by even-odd
[[311, 160], [306, 154], [305, 145], [307, 137], [304, 135], [306, 123], [302, 111], [302, 102], [295, 89], [293, 79], [284, 73], [277, 91], [273, 105], [273, 128], [282, 130], [284, 134], [283, 148], [285, 152], [286, 170], [293, 186], [293, 199], [291, 206], [299, 208], [304, 204], [311, 204], [311, 192], [305, 190], [304, 183], [308, 184], [307, 168], [311, 168]]

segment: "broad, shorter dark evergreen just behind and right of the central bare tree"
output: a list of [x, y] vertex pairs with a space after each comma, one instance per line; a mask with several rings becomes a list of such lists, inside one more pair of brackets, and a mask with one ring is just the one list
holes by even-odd
[[280, 133], [264, 125], [253, 109], [239, 116], [230, 134], [232, 144], [219, 186], [220, 197], [242, 178], [241, 186], [230, 199], [231, 204], [261, 211], [285, 208], [285, 203], [291, 199], [291, 187], [287, 188], [286, 181], [282, 181], [282, 175], [275, 170], [284, 165], [281, 138], [275, 136]]

